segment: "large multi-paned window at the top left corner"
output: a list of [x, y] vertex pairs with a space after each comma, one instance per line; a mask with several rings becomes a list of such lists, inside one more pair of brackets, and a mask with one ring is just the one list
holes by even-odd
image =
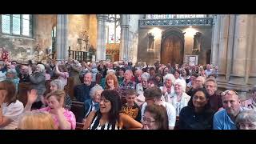
[[32, 37], [31, 14], [1, 14], [1, 33]]

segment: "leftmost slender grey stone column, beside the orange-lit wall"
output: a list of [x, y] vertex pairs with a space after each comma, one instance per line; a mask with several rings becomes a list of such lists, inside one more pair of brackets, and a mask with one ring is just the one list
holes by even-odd
[[68, 59], [68, 15], [57, 15], [57, 59]]

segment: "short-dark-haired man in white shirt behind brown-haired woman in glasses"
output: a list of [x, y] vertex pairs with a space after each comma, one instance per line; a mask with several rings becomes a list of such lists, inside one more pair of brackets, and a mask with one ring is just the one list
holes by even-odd
[[169, 130], [174, 130], [176, 122], [176, 110], [170, 103], [162, 101], [162, 91], [158, 87], [154, 86], [146, 89], [144, 91], [144, 96], [146, 102], [142, 105], [142, 115], [144, 115], [147, 105], [157, 104], [165, 106], [168, 115]]

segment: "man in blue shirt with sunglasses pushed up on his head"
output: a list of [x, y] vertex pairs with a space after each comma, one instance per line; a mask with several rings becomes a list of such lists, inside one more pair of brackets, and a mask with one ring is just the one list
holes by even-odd
[[226, 90], [222, 93], [223, 110], [214, 114], [214, 130], [236, 130], [235, 118], [246, 108], [241, 106], [238, 93]]

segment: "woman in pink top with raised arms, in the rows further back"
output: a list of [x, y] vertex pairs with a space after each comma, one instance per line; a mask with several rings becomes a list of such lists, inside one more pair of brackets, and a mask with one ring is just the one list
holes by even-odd
[[66, 70], [66, 66], [58, 65], [58, 62], [55, 62], [55, 74], [58, 75], [58, 79], [62, 80], [63, 86], [66, 86], [67, 78], [69, 78], [69, 73]]

